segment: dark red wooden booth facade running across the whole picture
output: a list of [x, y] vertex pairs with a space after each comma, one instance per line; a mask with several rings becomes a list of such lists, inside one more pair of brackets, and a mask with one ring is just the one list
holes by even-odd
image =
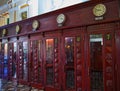
[[[106, 6], [107, 12], [103, 20], [97, 21], [93, 15], [93, 7], [99, 3]], [[96, 68], [103, 68], [104, 91], [120, 91], [119, 4], [119, 0], [93, 0], [0, 27], [2, 48], [5, 43], [9, 43], [9, 79], [12, 79], [10, 65], [13, 60], [10, 57], [13, 55], [12, 46], [14, 42], [17, 42], [16, 79], [18, 83], [45, 91], [91, 91], [90, 35], [101, 34], [103, 38], [102, 57], [96, 55], [96, 59], [102, 59], [103, 64], [100, 66], [96, 62]], [[61, 13], [66, 15], [66, 21], [63, 26], [59, 27], [56, 18]], [[34, 20], [40, 22], [40, 27], [36, 31], [32, 29]], [[16, 25], [21, 27], [19, 34], [15, 32]], [[4, 37], [2, 36], [3, 29], [7, 29]], [[69, 46], [67, 39], [71, 39], [69, 42], [73, 44]], [[27, 79], [23, 79], [24, 42], [28, 43]], [[48, 52], [49, 48], [51, 48], [50, 52]], [[67, 48], [72, 48], [71, 63], [66, 61]], [[0, 65], [2, 65], [0, 73], [2, 73], [4, 50], [0, 51]], [[48, 53], [52, 53], [52, 61], [47, 59]], [[0, 76], [3, 77], [1, 74]], [[73, 79], [69, 78], [71, 76]], [[68, 78], [71, 79], [71, 84]]]

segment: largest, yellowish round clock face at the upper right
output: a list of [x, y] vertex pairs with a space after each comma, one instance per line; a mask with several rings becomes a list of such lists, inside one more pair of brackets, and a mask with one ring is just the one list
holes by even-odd
[[103, 16], [106, 13], [106, 7], [104, 4], [97, 4], [93, 8], [93, 14], [95, 16]]

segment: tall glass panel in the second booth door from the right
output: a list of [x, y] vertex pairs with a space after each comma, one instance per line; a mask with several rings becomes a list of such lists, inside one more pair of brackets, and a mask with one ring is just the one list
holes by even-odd
[[75, 88], [74, 37], [65, 38], [65, 57], [66, 88]]

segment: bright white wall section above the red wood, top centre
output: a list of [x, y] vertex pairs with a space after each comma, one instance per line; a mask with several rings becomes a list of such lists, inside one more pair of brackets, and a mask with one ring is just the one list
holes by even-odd
[[89, 0], [39, 0], [39, 14], [82, 3]]

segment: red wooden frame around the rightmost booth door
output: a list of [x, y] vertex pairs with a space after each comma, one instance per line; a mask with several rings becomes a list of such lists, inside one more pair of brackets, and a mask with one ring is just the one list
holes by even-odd
[[106, 85], [106, 82], [105, 82], [105, 71], [106, 71], [106, 69], [105, 69], [105, 44], [106, 44], [106, 40], [105, 40], [105, 35], [106, 34], [109, 34], [109, 33], [111, 33], [112, 34], [112, 49], [113, 49], [113, 52], [112, 52], [112, 57], [113, 57], [113, 66], [112, 66], [112, 70], [113, 70], [113, 72], [112, 72], [112, 74], [113, 74], [113, 90], [111, 90], [111, 91], [115, 91], [115, 74], [114, 74], [114, 72], [115, 72], [115, 69], [114, 69], [114, 65], [115, 65], [115, 50], [114, 50], [114, 48], [115, 48], [115, 33], [114, 33], [114, 30], [113, 29], [99, 29], [99, 30], [93, 30], [93, 31], [87, 31], [87, 69], [88, 69], [88, 77], [87, 77], [87, 79], [88, 79], [88, 84], [87, 84], [87, 89], [88, 89], [88, 91], [91, 91], [90, 90], [90, 73], [89, 73], [89, 70], [90, 70], [90, 37], [89, 37], [89, 35], [90, 34], [102, 34], [102, 39], [103, 39], [103, 48], [102, 48], [102, 55], [103, 55], [103, 57], [102, 57], [102, 59], [103, 59], [103, 85], [104, 85], [104, 91], [107, 91], [106, 90], [106, 87], [105, 87], [105, 85]]

